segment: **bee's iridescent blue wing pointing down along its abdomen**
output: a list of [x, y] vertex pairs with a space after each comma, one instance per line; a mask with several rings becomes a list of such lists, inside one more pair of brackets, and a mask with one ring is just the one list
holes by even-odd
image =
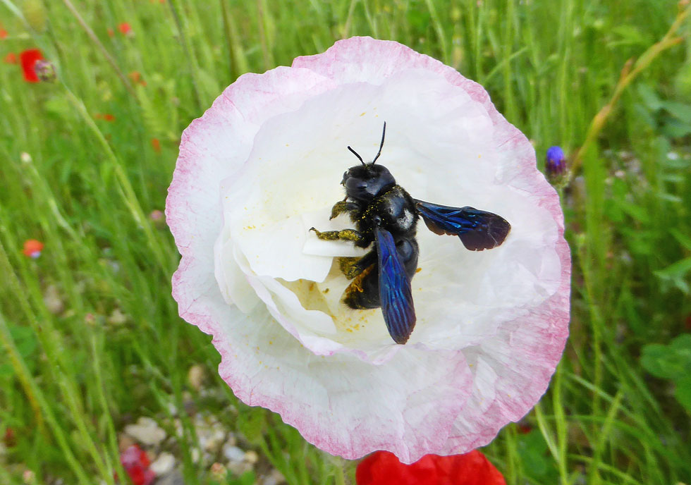
[[379, 301], [386, 328], [396, 343], [406, 343], [415, 326], [410, 278], [405, 274], [391, 233], [375, 226], [374, 241], [379, 263]]

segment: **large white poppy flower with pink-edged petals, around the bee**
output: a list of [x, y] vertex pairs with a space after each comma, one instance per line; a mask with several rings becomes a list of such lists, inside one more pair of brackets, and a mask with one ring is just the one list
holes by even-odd
[[[500, 214], [500, 247], [466, 250], [418, 224], [417, 324], [397, 345], [380, 309], [341, 302], [334, 257], [309, 231], [343, 199], [352, 146], [412, 197]], [[355, 37], [238, 78], [183, 133], [167, 221], [183, 258], [181, 317], [214, 336], [219, 372], [345, 458], [465, 453], [546, 390], [568, 335], [570, 254], [534, 149], [487, 92], [396, 42]]]

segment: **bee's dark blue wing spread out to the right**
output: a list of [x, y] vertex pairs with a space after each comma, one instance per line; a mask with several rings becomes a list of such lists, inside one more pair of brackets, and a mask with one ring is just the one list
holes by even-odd
[[502, 216], [475, 207], [449, 207], [415, 199], [417, 211], [436, 234], [457, 235], [471, 251], [491, 250], [506, 239], [511, 225]]

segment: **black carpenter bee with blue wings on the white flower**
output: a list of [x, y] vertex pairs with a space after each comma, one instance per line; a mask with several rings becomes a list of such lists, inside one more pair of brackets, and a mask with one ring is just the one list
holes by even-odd
[[422, 216], [433, 233], [457, 235], [472, 251], [501, 245], [511, 225], [497, 214], [473, 207], [448, 207], [410, 197], [396, 185], [385, 166], [374, 164], [384, 147], [385, 136], [386, 123], [379, 152], [369, 164], [348, 147], [361, 165], [343, 173], [345, 199], [334, 204], [331, 219], [347, 213], [357, 229], [310, 231], [322, 240], [348, 240], [363, 248], [374, 243], [374, 248], [361, 258], [340, 258], [341, 271], [353, 280], [343, 293], [343, 302], [354, 309], [381, 307], [391, 338], [403, 344], [415, 327], [410, 281], [417, 270], [419, 254], [415, 240], [417, 219]]

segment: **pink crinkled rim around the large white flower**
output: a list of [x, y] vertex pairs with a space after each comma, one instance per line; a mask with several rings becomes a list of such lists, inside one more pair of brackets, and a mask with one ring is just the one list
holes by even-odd
[[[367, 55], [362, 55], [363, 49], [367, 51]], [[359, 54], [359, 59], [355, 58], [355, 54]], [[350, 64], [345, 66], [345, 68], [349, 69], [349, 72], [345, 75], [347, 79], [340, 79], [338, 76], [342, 73], [337, 69], [343, 68], [339, 63], [342, 63], [344, 60], [350, 62]], [[542, 367], [538, 366], [537, 369], [535, 369], [541, 369], [542, 372], [539, 372], [539, 375], [530, 381], [530, 386], [522, 389], [522, 394], [520, 394], [518, 398], [515, 396], [512, 398], [509, 395], [500, 396], [499, 390], [497, 391], [497, 397], [494, 403], [491, 404], [491, 407], [485, 414], [491, 416], [493, 413], [497, 413], [496, 415], [501, 417], [501, 419], [493, 419], [490, 422], [485, 422], [485, 427], [474, 433], [464, 434], [463, 436], [451, 436], [448, 442], [439, 443], [438, 446], [431, 446], [430, 443], [410, 443], [410, 447], [406, 446], [405, 443], [394, 442], [389, 443], [389, 446], [382, 446], [382, 443], [367, 443], [367, 441], [357, 443], [357, 446], [352, 446], [353, 443], [351, 443], [351, 446], [347, 446], [346, 443], [335, 442], [330, 436], [324, 434], [326, 430], [310, 425], [314, 422], [314, 418], [310, 419], [310, 413], [307, 412], [305, 408], [302, 408], [300, 403], [290, 400], [280, 400], [270, 395], [262, 395], [262, 393], [258, 392], [257, 388], [252, 388], [252, 384], [250, 380], [247, 379], [246, 375], [239, 376], [235, 373], [238, 369], [233, 369], [233, 372], [228, 372], [235, 367], [233, 364], [241, 364], [241, 362], [234, 362], [235, 360], [230, 355], [230, 352], [228, 352], [225, 346], [221, 345], [217, 340], [219, 336], [223, 335], [218, 319], [222, 318], [221, 315], [226, 313], [224, 309], [216, 307], [219, 300], [221, 302], [223, 301], [219, 291], [217, 288], [215, 290], [214, 288], [205, 288], [207, 292], [214, 294], [218, 293], [217, 298], [214, 297], [210, 299], [209, 295], [205, 294], [203, 291], [192, 294], [185, 288], [185, 276], [187, 276], [191, 267], [197, 264], [195, 252], [188, 247], [190, 244], [193, 244], [191, 239], [194, 238], [195, 231], [188, 226], [190, 221], [188, 221], [188, 214], [186, 214], [186, 212], [190, 209], [188, 208], [185, 194], [188, 192], [190, 185], [195, 184], [192, 174], [195, 173], [198, 168], [195, 167], [195, 160], [192, 159], [191, 156], [183, 156], [183, 146], [189, 142], [190, 135], [195, 130], [204, 130], [204, 123], [210, 117], [218, 114], [215, 113], [215, 111], [222, 112], [223, 108], [219, 107], [221, 97], [214, 102], [212, 108], [210, 108], [202, 118], [193, 121], [190, 128], [183, 133], [181, 157], [178, 159], [178, 166], [176, 167], [176, 173], [173, 177], [173, 183], [171, 183], [171, 187], [169, 188], [169, 198], [166, 201], [166, 218], [171, 223], [171, 231], [176, 238], [176, 244], [181, 254], [183, 254], [181, 265], [178, 271], [176, 271], [176, 274], [173, 275], [173, 297], [175, 297], [180, 305], [180, 314], [183, 319], [198, 326], [205, 333], [216, 336], [214, 337], [214, 345], [219, 350], [222, 357], [219, 371], [231, 388], [233, 388], [236, 395], [238, 395], [238, 398], [248, 405], [262, 405], [274, 412], [278, 412], [284, 422], [297, 427], [307, 441], [314, 443], [314, 445], [319, 448], [327, 450], [329, 453], [341, 455], [344, 458], [350, 459], [360, 458], [362, 455], [370, 453], [377, 448], [387, 449], [396, 453], [403, 462], [414, 462], [427, 453], [437, 453], [441, 455], [463, 453], [464, 451], [487, 444], [508, 421], [518, 420], [525, 415], [546, 390], [549, 380], [551, 379], [551, 374], [554, 373], [556, 364], [558, 364], [561, 358], [565, 340], [568, 336], [570, 251], [567, 243], [563, 239], [563, 214], [559, 205], [558, 195], [556, 195], [554, 188], [551, 188], [551, 185], [544, 180], [542, 174], [537, 171], [534, 151], [530, 142], [528, 142], [525, 135], [520, 133], [520, 130], [510, 125], [510, 123], [496, 111], [484, 88], [473, 81], [463, 78], [463, 76], [453, 70], [453, 68], [445, 66], [435, 59], [424, 56], [423, 54], [418, 54], [412, 51], [412, 49], [396, 42], [379, 41], [369, 37], [354, 37], [352, 39], [336, 42], [334, 47], [331, 47], [324, 54], [295, 59], [293, 68], [307, 68], [313, 70], [314, 73], [318, 75], [332, 78], [337, 82], [354, 82], [357, 80], [358, 71], [364, 71], [363, 69], [359, 69], [358, 64], [367, 64], [370, 70], [376, 70], [379, 75], [383, 75], [384, 77], [387, 74], [395, 72], [395, 70], [405, 68], [427, 68], [434, 70], [436, 73], [443, 74], [449, 82], [453, 85], [463, 87], [470, 94], [472, 99], [475, 99], [485, 106], [493, 123], [498, 128], [496, 130], [497, 134], [495, 135], [497, 145], [519, 154], [517, 160], [518, 171], [516, 171], [514, 178], [511, 180], [511, 185], [522, 190], [530, 190], [530, 192], [534, 194], [532, 198], [535, 199], [535, 202], [548, 209], [558, 223], [559, 238], [556, 249], [562, 265], [561, 286], [558, 293], [544, 302], [541, 307], [533, 309], [529, 317], [521, 319], [527, 320], [528, 318], [534, 318], [543, 321], [545, 324], [544, 328], [539, 330], [539, 334], [542, 336], [541, 339], [532, 339], [532, 341], [524, 342], [526, 344], [525, 350], [530, 357], [537, 358], [542, 356], [542, 359], [539, 359], [541, 361], [539, 364], [542, 364]], [[285, 72], [288, 68], [283, 68], [283, 70]], [[250, 75], [239, 78], [234, 85], [231, 85], [233, 90], [231, 90], [231, 87], [228, 87], [228, 90], [224, 92], [222, 98], [226, 99], [226, 101], [230, 101], [232, 104], [233, 93], [240, 92], [240, 90], [243, 89], [254, 91], [257, 97], [261, 97], [262, 95], [269, 96], [271, 93], [267, 91], [262, 92], [261, 88], [257, 89], [257, 86], [255, 86], [255, 83], [259, 85], [262, 82], [261, 78], [268, 74], [269, 73]], [[286, 76], [290, 75], [290, 73], [286, 72]], [[352, 79], [352, 81], [349, 79]], [[276, 87], [276, 85], [274, 85], [274, 87]], [[194, 217], [197, 216], [199, 216], [199, 214], [196, 214]], [[210, 220], [207, 221], [207, 223], [213, 225], [214, 221]], [[209, 282], [207, 282], [207, 284], [208, 283]], [[510, 327], [512, 323], [513, 322], [509, 322], [509, 324], [505, 326]], [[525, 340], [525, 337], [526, 336], [521, 335], [520, 327], [509, 331], [509, 340], [515, 339], [521, 341]], [[529, 337], [530, 340], [531, 336], [529, 335], [527, 337]], [[549, 347], [549, 352], [544, 355], [546, 347]], [[250, 388], [247, 388], [248, 384]], [[464, 411], [461, 411], [461, 415], [463, 415], [463, 412]], [[448, 431], [451, 431], [452, 427], [453, 423], [449, 423]]]

